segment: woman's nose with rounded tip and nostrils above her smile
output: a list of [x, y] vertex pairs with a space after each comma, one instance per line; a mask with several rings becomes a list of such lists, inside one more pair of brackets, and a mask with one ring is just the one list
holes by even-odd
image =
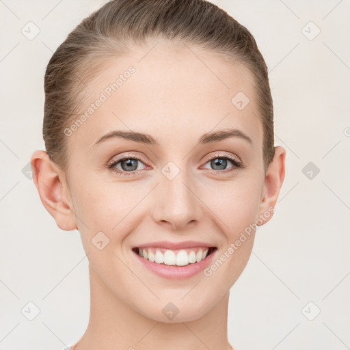
[[181, 176], [169, 180], [162, 175], [161, 183], [154, 193], [153, 217], [157, 224], [174, 230], [186, 230], [200, 221], [201, 201], [196, 186], [189, 177]]

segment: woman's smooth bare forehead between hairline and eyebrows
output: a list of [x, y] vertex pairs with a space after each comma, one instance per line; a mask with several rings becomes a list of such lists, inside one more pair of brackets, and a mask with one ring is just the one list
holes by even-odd
[[166, 144], [228, 128], [244, 131], [262, 147], [254, 79], [242, 64], [193, 46], [158, 42], [98, 69], [85, 88], [87, 103], [79, 116], [86, 118], [68, 138], [70, 147], [79, 139], [89, 149], [113, 130], [148, 133]]

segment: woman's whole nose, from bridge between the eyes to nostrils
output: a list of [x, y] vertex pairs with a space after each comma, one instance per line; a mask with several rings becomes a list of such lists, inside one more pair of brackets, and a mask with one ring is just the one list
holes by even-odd
[[180, 168], [180, 165], [170, 161], [161, 169], [161, 183], [155, 204], [157, 208], [154, 211], [154, 219], [167, 221], [176, 229], [198, 221], [200, 213], [200, 201], [195, 195], [193, 178], [185, 169], [185, 164], [182, 162]]

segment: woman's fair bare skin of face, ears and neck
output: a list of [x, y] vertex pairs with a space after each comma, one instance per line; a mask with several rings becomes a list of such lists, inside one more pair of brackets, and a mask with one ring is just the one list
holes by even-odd
[[[275, 147], [265, 174], [250, 70], [194, 46], [159, 42], [150, 51], [152, 46], [114, 59], [88, 83], [86, 98], [92, 103], [115, 77], [129, 66], [135, 68], [118, 91], [66, 137], [65, 172], [42, 150], [31, 157], [42, 203], [59, 228], [79, 230], [88, 254], [90, 321], [75, 350], [148, 350], [154, 345], [169, 350], [232, 349], [227, 338], [230, 287], [250, 257], [254, 230], [209, 277], [198, 273], [185, 280], [161, 278], [143, 267], [131, 248], [150, 241], [196, 240], [212, 243], [219, 258], [245, 228], [266, 217], [284, 180], [286, 151], [281, 146]], [[240, 91], [250, 98], [243, 110], [231, 103]], [[198, 144], [204, 133], [224, 129], [243, 131], [252, 144], [239, 137]], [[120, 138], [94, 146], [113, 130], [148, 133], [160, 146]], [[137, 174], [120, 176], [107, 168], [109, 161], [129, 153], [144, 159], [137, 163]], [[239, 157], [245, 167], [234, 169], [227, 161], [220, 170], [210, 162], [217, 154]], [[161, 172], [169, 161], [180, 170], [172, 180]], [[121, 163], [116, 167], [127, 173]], [[109, 238], [103, 250], [91, 242], [100, 231]], [[170, 301], [179, 310], [172, 320], [162, 312]]]

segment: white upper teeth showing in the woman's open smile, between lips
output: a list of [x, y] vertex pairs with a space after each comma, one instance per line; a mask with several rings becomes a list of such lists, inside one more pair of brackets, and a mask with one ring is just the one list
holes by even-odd
[[213, 254], [217, 247], [191, 247], [180, 250], [170, 250], [161, 247], [135, 247], [133, 252], [150, 262], [159, 265], [186, 266], [196, 264]]

